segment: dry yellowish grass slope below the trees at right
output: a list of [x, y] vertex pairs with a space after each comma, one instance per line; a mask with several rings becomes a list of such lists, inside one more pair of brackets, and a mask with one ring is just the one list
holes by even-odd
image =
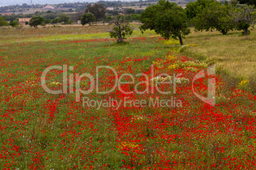
[[231, 31], [223, 36], [220, 32], [195, 32], [184, 40], [185, 44], [198, 44], [185, 49], [187, 55], [217, 58], [227, 72], [248, 79], [256, 70], [256, 29], [250, 36], [241, 36], [241, 31]]

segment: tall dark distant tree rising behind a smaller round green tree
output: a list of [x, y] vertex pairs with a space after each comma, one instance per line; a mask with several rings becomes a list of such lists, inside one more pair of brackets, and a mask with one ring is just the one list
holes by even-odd
[[95, 17], [96, 20], [104, 20], [106, 18], [105, 13], [106, 13], [106, 8], [102, 4], [89, 4], [87, 8], [85, 9], [85, 13], [92, 13]]

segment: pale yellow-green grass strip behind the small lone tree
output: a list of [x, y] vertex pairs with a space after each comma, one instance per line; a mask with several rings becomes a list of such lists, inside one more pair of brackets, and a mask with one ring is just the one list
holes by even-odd
[[[133, 34], [129, 37], [157, 36], [153, 30], [146, 30], [144, 34], [139, 30], [139, 24], [131, 24]], [[113, 25], [92, 25], [90, 27], [48, 27], [48, 28], [21, 28], [3, 29], [3, 39], [0, 44], [35, 41], [65, 41], [81, 39], [110, 39], [110, 30]]]

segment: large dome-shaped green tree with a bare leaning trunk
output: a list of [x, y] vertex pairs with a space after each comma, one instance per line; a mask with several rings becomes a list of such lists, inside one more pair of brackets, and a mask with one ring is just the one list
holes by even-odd
[[183, 45], [182, 37], [190, 33], [188, 29], [187, 16], [183, 8], [176, 3], [160, 0], [158, 4], [148, 6], [145, 12], [141, 13], [140, 29], [155, 30], [157, 34], [169, 39], [173, 37], [180, 39], [181, 46]]

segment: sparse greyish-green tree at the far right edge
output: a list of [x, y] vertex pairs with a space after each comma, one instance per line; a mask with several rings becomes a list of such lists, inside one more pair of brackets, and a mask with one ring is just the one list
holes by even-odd
[[243, 30], [243, 34], [247, 36], [250, 34], [248, 28], [250, 26], [254, 27], [256, 23], [256, 10], [253, 6], [248, 6], [246, 4], [237, 4], [235, 6], [236, 10], [233, 15], [235, 18], [236, 29]]

